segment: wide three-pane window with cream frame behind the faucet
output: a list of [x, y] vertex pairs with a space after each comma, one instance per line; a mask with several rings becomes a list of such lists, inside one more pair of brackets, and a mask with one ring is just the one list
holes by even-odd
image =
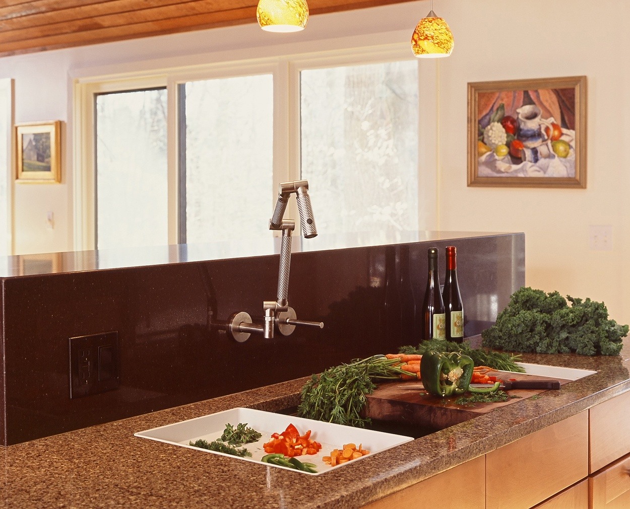
[[75, 187], [95, 202], [79, 199], [88, 221], [76, 244], [270, 236], [278, 184], [294, 179], [309, 181], [327, 237], [421, 229], [418, 62], [406, 46], [387, 51], [163, 70], [139, 77], [161, 86], [134, 89], [86, 80], [81, 119], [96, 128], [96, 167], [90, 177], [88, 151]]

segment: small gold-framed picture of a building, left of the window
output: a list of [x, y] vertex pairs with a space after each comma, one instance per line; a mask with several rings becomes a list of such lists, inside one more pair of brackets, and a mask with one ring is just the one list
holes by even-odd
[[16, 124], [16, 180], [27, 183], [61, 182], [60, 138], [60, 120]]

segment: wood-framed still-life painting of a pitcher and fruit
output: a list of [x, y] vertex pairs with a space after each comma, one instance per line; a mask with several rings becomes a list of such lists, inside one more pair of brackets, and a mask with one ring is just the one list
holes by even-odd
[[469, 83], [467, 147], [468, 186], [584, 189], [587, 77]]

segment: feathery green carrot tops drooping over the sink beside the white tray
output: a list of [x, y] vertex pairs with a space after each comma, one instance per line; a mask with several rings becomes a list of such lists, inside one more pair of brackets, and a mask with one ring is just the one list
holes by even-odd
[[361, 415], [372, 394], [374, 379], [398, 379], [408, 372], [394, 366], [399, 359], [385, 355], [372, 355], [367, 359], [354, 359], [350, 364], [330, 367], [323, 373], [312, 375], [302, 387], [301, 403], [297, 415], [336, 424], [359, 428], [370, 423]]

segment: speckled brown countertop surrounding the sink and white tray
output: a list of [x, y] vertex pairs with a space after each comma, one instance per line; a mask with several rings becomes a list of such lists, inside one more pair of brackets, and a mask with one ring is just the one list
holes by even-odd
[[359, 507], [630, 390], [628, 340], [619, 357], [523, 357], [598, 372], [319, 476], [134, 437], [238, 406], [294, 406], [306, 379], [266, 386], [0, 449], [0, 506]]

